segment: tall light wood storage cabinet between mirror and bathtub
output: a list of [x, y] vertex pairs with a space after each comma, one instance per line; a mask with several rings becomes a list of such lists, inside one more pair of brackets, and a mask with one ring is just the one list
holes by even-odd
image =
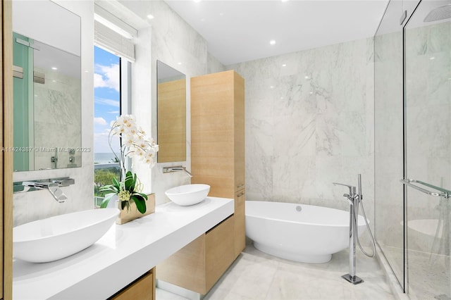
[[235, 199], [234, 257], [245, 248], [245, 80], [230, 70], [191, 79], [192, 183]]

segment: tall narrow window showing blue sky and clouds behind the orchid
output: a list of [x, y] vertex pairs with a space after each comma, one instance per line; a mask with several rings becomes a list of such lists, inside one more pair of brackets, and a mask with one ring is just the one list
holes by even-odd
[[[126, 101], [125, 101], [126, 102]], [[120, 142], [109, 144], [111, 122], [121, 115], [121, 58], [94, 46], [94, 204], [99, 206], [113, 177], [120, 180]], [[113, 150], [112, 150], [112, 149]], [[116, 155], [113, 153], [116, 153]]]

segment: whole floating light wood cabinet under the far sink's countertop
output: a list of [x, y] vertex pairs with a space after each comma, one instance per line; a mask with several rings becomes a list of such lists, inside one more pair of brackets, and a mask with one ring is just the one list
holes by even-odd
[[158, 279], [199, 294], [206, 294], [226, 272], [233, 256], [231, 215], [157, 265]]

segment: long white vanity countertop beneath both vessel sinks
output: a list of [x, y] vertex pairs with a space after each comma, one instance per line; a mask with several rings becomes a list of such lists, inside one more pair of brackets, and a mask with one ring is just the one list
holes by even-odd
[[[106, 299], [224, 220], [233, 199], [172, 202], [106, 234], [78, 254], [51, 263], [13, 259], [13, 299]], [[32, 249], [30, 249], [32, 251]]]

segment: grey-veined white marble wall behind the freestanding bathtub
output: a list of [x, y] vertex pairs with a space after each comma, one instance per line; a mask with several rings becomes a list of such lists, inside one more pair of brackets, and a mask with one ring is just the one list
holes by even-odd
[[245, 78], [247, 200], [348, 210], [362, 174], [373, 223], [373, 41], [228, 65]]

